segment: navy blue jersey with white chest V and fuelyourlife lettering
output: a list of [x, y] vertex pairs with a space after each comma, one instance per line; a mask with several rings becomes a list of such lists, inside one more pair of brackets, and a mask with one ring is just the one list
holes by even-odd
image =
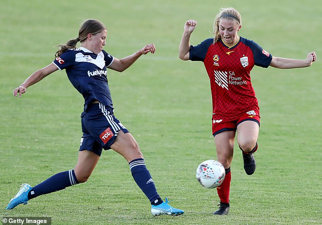
[[103, 105], [113, 108], [106, 70], [113, 59], [114, 57], [104, 50], [96, 55], [80, 47], [67, 50], [53, 63], [59, 69], [66, 69], [70, 82], [83, 95], [85, 106], [93, 100], [98, 100]]

